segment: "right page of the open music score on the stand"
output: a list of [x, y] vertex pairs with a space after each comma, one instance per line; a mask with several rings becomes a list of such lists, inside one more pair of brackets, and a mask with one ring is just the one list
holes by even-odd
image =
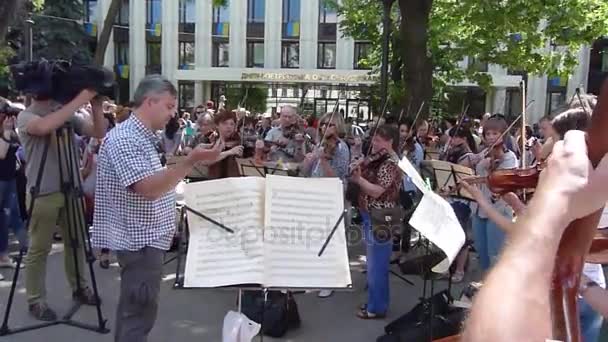
[[343, 210], [338, 178], [267, 176], [265, 284], [288, 288], [351, 285], [344, 220], [318, 256]]

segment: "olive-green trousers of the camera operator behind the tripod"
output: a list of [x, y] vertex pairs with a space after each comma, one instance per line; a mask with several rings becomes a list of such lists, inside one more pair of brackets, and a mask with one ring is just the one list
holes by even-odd
[[[30, 205], [28, 194], [27, 205]], [[77, 289], [76, 268], [74, 267], [74, 253], [66, 216], [64, 196], [60, 192], [43, 195], [34, 200], [34, 211], [30, 222], [30, 248], [25, 259], [25, 288], [29, 304], [46, 301], [46, 260], [53, 244], [55, 227], [61, 229], [64, 241], [64, 267], [66, 276], [72, 290]], [[78, 274], [81, 288], [86, 287], [84, 277], [84, 254], [82, 251], [82, 232], [78, 235]]]

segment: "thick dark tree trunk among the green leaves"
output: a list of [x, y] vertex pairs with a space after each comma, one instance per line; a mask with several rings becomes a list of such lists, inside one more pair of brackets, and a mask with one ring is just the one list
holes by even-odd
[[432, 7], [433, 0], [399, 0], [405, 103], [411, 103], [411, 115], [422, 108], [420, 118], [429, 116], [433, 99], [433, 62], [427, 46]]

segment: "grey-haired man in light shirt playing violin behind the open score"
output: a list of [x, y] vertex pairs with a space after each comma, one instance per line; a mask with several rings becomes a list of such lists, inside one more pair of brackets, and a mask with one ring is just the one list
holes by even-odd
[[[270, 147], [265, 148], [269, 152], [272, 161], [282, 160], [283, 162], [301, 162], [305, 154], [304, 135], [298, 127], [298, 112], [295, 107], [284, 106], [279, 117], [279, 126], [273, 127], [266, 134], [264, 141], [270, 143]], [[256, 148], [260, 148], [256, 144]]]

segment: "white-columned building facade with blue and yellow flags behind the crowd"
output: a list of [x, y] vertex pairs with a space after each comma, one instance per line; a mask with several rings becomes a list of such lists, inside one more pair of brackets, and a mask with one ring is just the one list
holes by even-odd
[[[212, 0], [122, 1], [105, 56], [105, 65], [117, 74], [120, 102], [132, 97], [146, 74], [162, 73], [178, 84], [182, 108], [261, 85], [267, 111], [300, 104], [320, 113], [338, 101], [348, 115], [370, 114], [366, 94], [378, 81], [364, 62], [370, 44], [345, 37], [340, 16], [324, 0], [228, 0], [224, 7], [214, 7]], [[110, 2], [85, 0], [86, 20], [97, 32]], [[476, 65], [492, 75], [492, 89], [467, 82], [456, 86], [471, 104], [470, 114], [516, 116], [523, 104], [520, 82], [526, 80], [528, 121], [534, 122], [587, 84], [589, 48], [581, 50], [580, 60], [570, 80]], [[472, 63], [466, 59], [462, 66]], [[243, 100], [228, 102], [234, 107]]]

